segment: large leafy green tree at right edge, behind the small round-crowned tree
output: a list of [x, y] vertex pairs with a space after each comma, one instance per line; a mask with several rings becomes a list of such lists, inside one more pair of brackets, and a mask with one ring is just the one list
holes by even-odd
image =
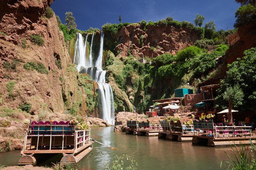
[[227, 76], [221, 81], [221, 88], [218, 90], [216, 97], [216, 106], [226, 108], [228, 102], [224, 99], [223, 94], [227, 87], [234, 87], [236, 84], [243, 90], [243, 106], [239, 108], [237, 103], [233, 107], [241, 111], [256, 111], [256, 48], [244, 51], [244, 57], [238, 58], [232, 64], [228, 64]]

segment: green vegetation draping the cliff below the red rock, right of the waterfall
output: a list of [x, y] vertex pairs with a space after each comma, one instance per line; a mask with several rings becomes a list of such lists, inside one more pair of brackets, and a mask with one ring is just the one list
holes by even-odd
[[[113, 78], [131, 104], [138, 108], [138, 113], [142, 113], [153, 104], [152, 100], [169, 98], [174, 89], [214, 70], [215, 59], [224, 55], [227, 48], [220, 45], [209, 54], [196, 46], [189, 46], [177, 56], [169, 53], [157, 56], [152, 59], [151, 65], [140, 63], [133, 56], [113, 58], [111, 65], [107, 67], [108, 79]], [[116, 112], [123, 111], [123, 101], [119, 98], [121, 97], [115, 96]]]

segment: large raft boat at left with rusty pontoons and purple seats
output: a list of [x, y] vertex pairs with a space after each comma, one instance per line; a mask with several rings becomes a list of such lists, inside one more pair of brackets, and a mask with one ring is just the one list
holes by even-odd
[[33, 121], [26, 129], [18, 165], [35, 166], [37, 162], [60, 153], [63, 154], [62, 165], [75, 165], [92, 150], [92, 143], [90, 130], [75, 129], [69, 121]]

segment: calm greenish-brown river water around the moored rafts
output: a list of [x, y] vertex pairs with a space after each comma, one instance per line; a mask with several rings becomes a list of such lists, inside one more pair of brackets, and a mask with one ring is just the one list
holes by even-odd
[[[111, 163], [115, 155], [123, 154], [138, 162], [138, 170], [215, 170], [220, 169], [222, 160], [228, 161], [223, 150], [232, 155], [230, 147], [192, 145], [191, 142], [172, 141], [157, 136], [113, 132], [113, 127], [91, 128], [91, 137], [119, 150], [111, 150], [94, 142], [92, 151], [82, 160], [80, 170], [98, 170], [105, 165], [104, 161]], [[0, 164], [17, 166], [20, 157], [20, 151], [1, 153]], [[56, 156], [41, 166], [50, 166], [51, 162], [60, 159], [61, 155]]]

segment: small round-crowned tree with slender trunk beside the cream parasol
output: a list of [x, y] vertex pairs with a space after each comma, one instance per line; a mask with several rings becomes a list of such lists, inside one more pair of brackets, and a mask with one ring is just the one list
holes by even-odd
[[236, 105], [241, 105], [243, 101], [244, 93], [239, 87], [238, 84], [236, 84], [234, 87], [227, 87], [226, 91], [223, 94], [223, 99], [228, 101], [228, 123], [233, 122], [232, 118], [232, 107], [233, 104], [236, 103]]

